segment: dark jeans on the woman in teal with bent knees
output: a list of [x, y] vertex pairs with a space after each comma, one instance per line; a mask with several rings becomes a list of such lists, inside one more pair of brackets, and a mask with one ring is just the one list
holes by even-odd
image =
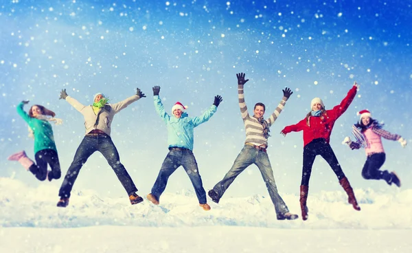
[[60, 162], [58, 162], [57, 152], [53, 149], [43, 149], [35, 155], [36, 164], [30, 166], [29, 170], [40, 181], [47, 178], [47, 164], [52, 171], [49, 171], [49, 179], [59, 179], [62, 175], [60, 170]]

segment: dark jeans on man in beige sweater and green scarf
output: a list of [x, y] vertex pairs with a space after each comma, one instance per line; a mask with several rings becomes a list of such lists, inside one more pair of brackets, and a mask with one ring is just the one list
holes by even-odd
[[113, 168], [128, 195], [137, 192], [137, 188], [130, 175], [128, 175], [126, 168], [120, 163], [119, 153], [111, 137], [108, 135], [86, 135], [80, 143], [76, 155], [74, 155], [69, 170], [67, 170], [65, 180], [58, 193], [60, 197], [70, 197], [71, 188], [73, 188], [74, 181], [79, 175], [80, 168], [95, 151], [99, 151], [106, 158], [108, 165]]

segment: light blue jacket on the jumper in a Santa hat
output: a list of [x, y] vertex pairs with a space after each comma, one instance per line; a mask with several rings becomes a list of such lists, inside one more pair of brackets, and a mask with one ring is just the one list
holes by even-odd
[[159, 96], [154, 96], [155, 98], [155, 109], [157, 114], [163, 119], [168, 126], [168, 145], [178, 146], [179, 148], [188, 148], [193, 150], [193, 129], [207, 122], [214, 113], [216, 113], [216, 105], [212, 104], [205, 113], [199, 117], [190, 118], [187, 113], [182, 113], [181, 118], [176, 118], [174, 115], [170, 116], [165, 112], [165, 108], [161, 103]]

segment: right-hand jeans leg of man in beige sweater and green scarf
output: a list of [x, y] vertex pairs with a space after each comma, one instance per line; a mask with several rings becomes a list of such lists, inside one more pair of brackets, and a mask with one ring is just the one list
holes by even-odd
[[119, 179], [120, 183], [122, 183], [122, 186], [126, 190], [128, 196], [137, 192], [135, 183], [128, 174], [126, 168], [124, 168], [123, 164], [120, 162], [119, 152], [117, 152], [117, 148], [115, 144], [113, 144], [111, 137], [98, 137], [98, 151], [100, 151], [104, 158], [106, 158], [108, 165], [113, 168], [113, 171], [117, 175], [117, 179]]

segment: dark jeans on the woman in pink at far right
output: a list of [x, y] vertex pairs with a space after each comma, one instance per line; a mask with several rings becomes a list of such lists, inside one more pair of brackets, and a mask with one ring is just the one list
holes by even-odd
[[362, 169], [362, 177], [365, 179], [385, 179], [385, 181], [389, 181], [391, 179], [391, 173], [389, 173], [388, 170], [379, 170], [385, 162], [385, 159], [385, 153], [369, 155]]

